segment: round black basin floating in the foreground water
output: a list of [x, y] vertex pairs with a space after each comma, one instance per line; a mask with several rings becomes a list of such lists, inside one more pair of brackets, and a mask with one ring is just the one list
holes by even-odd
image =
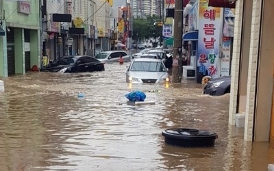
[[166, 129], [162, 132], [164, 142], [174, 146], [207, 147], [214, 146], [218, 135], [212, 131], [199, 131], [197, 129]]

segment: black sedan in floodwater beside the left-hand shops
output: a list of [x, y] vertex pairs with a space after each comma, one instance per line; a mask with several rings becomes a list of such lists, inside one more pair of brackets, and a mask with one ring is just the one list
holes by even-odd
[[81, 73], [103, 70], [105, 70], [104, 63], [88, 55], [60, 57], [41, 68], [41, 71], [58, 73]]

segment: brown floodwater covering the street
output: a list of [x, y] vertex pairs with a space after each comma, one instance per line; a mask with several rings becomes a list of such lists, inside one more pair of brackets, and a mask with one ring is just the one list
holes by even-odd
[[[194, 81], [129, 85], [127, 65], [3, 79], [0, 170], [260, 171], [274, 163], [273, 146], [244, 142], [244, 130], [228, 126], [229, 94], [203, 95]], [[132, 90], [155, 105], [128, 104]], [[164, 144], [162, 131], [175, 127], [208, 129], [219, 138], [212, 148]]]

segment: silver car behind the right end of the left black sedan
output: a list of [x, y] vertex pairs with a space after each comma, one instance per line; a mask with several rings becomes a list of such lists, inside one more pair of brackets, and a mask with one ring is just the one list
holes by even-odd
[[131, 58], [125, 51], [102, 51], [95, 56], [101, 62], [118, 62], [122, 55], [124, 62], [130, 62]]

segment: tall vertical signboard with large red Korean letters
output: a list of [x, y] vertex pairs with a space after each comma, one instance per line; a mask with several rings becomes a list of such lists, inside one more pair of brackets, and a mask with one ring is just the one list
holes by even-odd
[[197, 51], [197, 82], [210, 75], [217, 77], [221, 8], [208, 7], [208, 0], [199, 1], [199, 36]]

